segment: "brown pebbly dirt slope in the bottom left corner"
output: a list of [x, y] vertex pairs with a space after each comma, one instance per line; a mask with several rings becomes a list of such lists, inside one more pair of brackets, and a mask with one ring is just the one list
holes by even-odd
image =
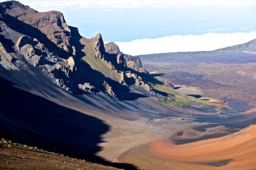
[[0, 169], [108, 169], [115, 167], [93, 164], [84, 160], [72, 159], [57, 153], [38, 150], [33, 147], [0, 142]]

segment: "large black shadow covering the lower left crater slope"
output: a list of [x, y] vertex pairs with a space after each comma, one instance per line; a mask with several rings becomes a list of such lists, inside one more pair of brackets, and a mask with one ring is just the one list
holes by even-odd
[[101, 149], [98, 144], [104, 142], [102, 134], [109, 131], [102, 120], [20, 90], [4, 78], [0, 82], [0, 138], [108, 166], [136, 169], [95, 155]]

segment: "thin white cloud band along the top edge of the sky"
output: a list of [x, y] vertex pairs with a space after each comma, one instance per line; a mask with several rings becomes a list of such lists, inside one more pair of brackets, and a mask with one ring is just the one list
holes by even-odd
[[252, 7], [256, 6], [255, 0], [20, 0], [39, 11], [63, 8], [103, 8], [103, 9], [124, 9], [124, 8], [173, 8], [173, 7]]

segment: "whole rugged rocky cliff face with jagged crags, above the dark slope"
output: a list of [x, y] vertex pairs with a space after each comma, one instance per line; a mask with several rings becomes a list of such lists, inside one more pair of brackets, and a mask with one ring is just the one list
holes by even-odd
[[[0, 3], [0, 64], [4, 69], [37, 67], [70, 92], [106, 92], [120, 96], [130, 85], [150, 91], [138, 57], [120, 52], [102, 36], [81, 37], [58, 11], [38, 12], [17, 1]], [[31, 71], [33, 74], [33, 71]]]

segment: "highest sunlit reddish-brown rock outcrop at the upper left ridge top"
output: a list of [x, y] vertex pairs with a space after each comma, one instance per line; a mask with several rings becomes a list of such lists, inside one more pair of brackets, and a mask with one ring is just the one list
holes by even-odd
[[[29, 6], [24, 6], [18, 1], [7, 1], [6, 3], [2, 3], [0, 8], [4, 13], [9, 15], [9, 18], [17, 19], [23, 22], [24, 26], [31, 25], [44, 33], [61, 50], [72, 52], [70, 46], [70, 29], [62, 13], [58, 11], [38, 12], [29, 8]], [[31, 31], [36, 32], [33, 29]]]

